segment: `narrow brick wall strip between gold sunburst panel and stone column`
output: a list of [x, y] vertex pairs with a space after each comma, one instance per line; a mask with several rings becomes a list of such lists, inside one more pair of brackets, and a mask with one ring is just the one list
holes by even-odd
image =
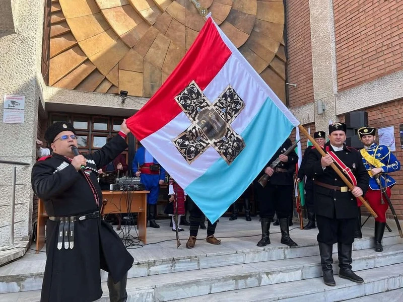
[[287, 77], [297, 87], [288, 89], [289, 106], [313, 102], [311, 28], [309, 0], [286, 1], [287, 14]]

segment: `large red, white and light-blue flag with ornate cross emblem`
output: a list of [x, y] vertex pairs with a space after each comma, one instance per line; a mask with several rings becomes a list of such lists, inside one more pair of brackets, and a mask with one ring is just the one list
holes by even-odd
[[131, 132], [216, 221], [299, 124], [209, 17]]

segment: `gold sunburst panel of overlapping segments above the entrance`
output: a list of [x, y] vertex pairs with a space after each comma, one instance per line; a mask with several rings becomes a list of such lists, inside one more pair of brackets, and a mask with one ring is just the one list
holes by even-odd
[[285, 102], [282, 0], [52, 0], [48, 85], [151, 97], [205, 23], [195, 2]]

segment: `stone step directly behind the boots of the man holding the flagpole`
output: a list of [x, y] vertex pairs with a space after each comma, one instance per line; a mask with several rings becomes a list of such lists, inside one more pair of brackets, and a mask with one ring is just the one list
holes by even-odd
[[[334, 272], [338, 273], [336, 254], [333, 259]], [[400, 264], [403, 263], [403, 244], [385, 246], [382, 253], [376, 253], [372, 249], [353, 251], [353, 260], [353, 269], [356, 271]], [[130, 278], [127, 280], [127, 292], [130, 301], [169, 301], [241, 288], [288, 284], [321, 275], [319, 257], [309, 256]], [[103, 282], [102, 287], [103, 298], [107, 300], [106, 282]], [[0, 300], [13, 301], [27, 293], [0, 294]], [[31, 298], [39, 299], [39, 290], [29, 293]]]

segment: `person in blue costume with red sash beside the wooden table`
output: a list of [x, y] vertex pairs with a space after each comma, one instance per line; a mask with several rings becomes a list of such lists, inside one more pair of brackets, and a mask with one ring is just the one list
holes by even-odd
[[160, 185], [165, 182], [165, 169], [158, 164], [157, 160], [144, 146], [140, 146], [133, 159], [132, 171], [137, 177], [140, 176], [141, 183], [147, 191], [150, 191], [147, 194], [148, 219], [151, 228], [159, 229], [160, 225], [155, 222], [155, 217], [157, 215]]

